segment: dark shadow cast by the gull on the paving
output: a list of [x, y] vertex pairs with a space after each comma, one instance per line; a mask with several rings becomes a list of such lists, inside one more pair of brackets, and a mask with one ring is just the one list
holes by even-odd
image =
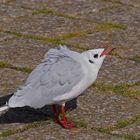
[[[3, 106], [12, 95], [0, 97], [0, 106]], [[60, 106], [57, 106], [60, 112]], [[65, 106], [66, 111], [71, 111], [77, 107], [77, 99], [68, 101]], [[30, 107], [21, 107], [9, 109], [0, 115], [0, 124], [7, 123], [31, 123], [53, 118], [52, 105], [46, 105], [41, 109], [33, 109]]]

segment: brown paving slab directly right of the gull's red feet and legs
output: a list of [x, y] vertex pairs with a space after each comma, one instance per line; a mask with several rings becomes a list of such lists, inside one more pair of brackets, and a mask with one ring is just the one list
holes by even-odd
[[77, 100], [72, 112], [75, 121], [81, 121], [89, 128], [108, 128], [120, 120], [130, 120], [140, 115], [140, 103], [128, 97], [94, 89], [85, 91]]

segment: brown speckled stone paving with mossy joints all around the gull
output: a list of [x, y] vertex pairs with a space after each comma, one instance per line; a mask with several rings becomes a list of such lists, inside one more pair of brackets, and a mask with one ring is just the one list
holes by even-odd
[[52, 121], [52, 106], [0, 115], [0, 140], [139, 140], [140, 1], [0, 0], [0, 106], [60, 43], [72, 50], [116, 47], [94, 85], [66, 104], [77, 127]]

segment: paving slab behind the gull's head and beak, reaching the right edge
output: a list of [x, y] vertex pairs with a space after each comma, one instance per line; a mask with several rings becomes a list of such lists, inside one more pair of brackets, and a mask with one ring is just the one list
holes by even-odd
[[65, 41], [77, 48], [93, 49], [104, 47], [106, 43], [116, 47], [115, 53], [121, 58], [139, 56], [140, 31], [128, 27], [126, 30], [113, 29], [107, 32], [97, 32], [86, 37], [75, 37]]

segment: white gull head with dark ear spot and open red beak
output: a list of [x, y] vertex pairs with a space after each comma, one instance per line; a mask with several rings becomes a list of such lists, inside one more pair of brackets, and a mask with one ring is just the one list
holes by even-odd
[[83, 52], [82, 54], [85, 56], [90, 66], [95, 70], [99, 71], [102, 66], [102, 63], [105, 57], [114, 50], [115, 48], [105, 47], [100, 49], [93, 49]]

